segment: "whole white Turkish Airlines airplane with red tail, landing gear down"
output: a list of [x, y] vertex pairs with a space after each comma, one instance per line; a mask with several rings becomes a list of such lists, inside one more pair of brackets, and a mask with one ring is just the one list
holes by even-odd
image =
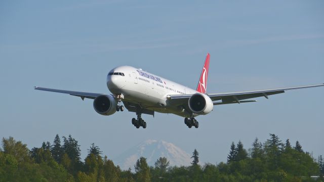
[[[119, 66], [112, 69], [107, 75], [107, 87], [112, 94], [96, 94], [74, 92], [44, 87], [34, 87], [37, 90], [69, 94], [94, 99], [93, 107], [101, 115], [111, 115], [116, 111], [124, 111], [124, 106], [130, 112], [135, 112], [137, 119], [132, 119], [132, 124], [139, 128], [146, 128], [142, 114], [154, 116], [154, 112], [172, 113], [184, 117], [184, 123], [191, 128], [198, 128], [199, 123], [194, 118], [206, 115], [213, 110], [215, 105], [256, 102], [247, 100], [285, 93], [286, 90], [324, 86], [322, 84], [295, 86], [285, 88], [272, 88], [250, 90], [243, 92], [207, 94], [207, 78], [210, 54], [207, 54], [203, 70], [196, 90], [143, 71], [131, 66]], [[123, 102], [124, 106], [121, 105]]]

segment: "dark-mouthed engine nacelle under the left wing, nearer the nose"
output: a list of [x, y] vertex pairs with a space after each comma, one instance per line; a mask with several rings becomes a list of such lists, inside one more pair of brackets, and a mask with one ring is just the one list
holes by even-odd
[[93, 101], [95, 111], [101, 115], [111, 115], [116, 112], [117, 103], [111, 95], [100, 95]]

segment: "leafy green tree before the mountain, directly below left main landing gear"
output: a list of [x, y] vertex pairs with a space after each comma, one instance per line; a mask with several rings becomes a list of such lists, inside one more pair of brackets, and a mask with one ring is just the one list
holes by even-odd
[[137, 159], [134, 167], [137, 181], [150, 181], [150, 168], [147, 165], [146, 158]]

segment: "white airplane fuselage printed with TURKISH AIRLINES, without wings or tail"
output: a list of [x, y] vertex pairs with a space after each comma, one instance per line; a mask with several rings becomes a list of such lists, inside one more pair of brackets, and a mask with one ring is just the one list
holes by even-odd
[[142, 108], [183, 117], [191, 114], [184, 108], [170, 104], [167, 96], [198, 93], [194, 89], [131, 66], [112, 69], [107, 75], [107, 87], [112, 94], [121, 95], [124, 103], [136, 103]]

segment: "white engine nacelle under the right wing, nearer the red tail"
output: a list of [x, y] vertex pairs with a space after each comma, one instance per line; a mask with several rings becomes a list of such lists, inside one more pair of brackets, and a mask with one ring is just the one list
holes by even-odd
[[206, 94], [196, 93], [188, 100], [188, 106], [194, 114], [208, 114], [212, 112], [214, 104]]

